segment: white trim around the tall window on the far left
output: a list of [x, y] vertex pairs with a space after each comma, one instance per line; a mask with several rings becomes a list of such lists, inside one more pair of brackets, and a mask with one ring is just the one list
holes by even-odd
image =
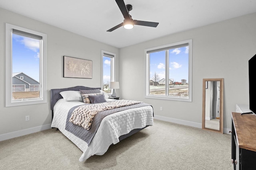
[[[42, 36], [42, 47], [40, 49], [42, 52], [42, 56], [40, 57], [40, 98], [39, 99], [28, 99], [28, 100], [12, 100], [12, 29], [17, 29], [20, 31], [32, 33], [35, 35]], [[46, 92], [46, 41], [47, 35], [44, 33], [40, 33], [37, 31], [33, 31], [30, 29], [26, 29], [23, 27], [19, 27], [16, 25], [12, 25], [6, 23], [6, 107], [11, 106], [23, 106], [23, 105], [31, 105], [31, 104], [42, 104], [47, 103], [47, 92]]]

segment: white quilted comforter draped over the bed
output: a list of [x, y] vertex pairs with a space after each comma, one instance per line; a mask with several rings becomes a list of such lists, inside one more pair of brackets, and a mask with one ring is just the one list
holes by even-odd
[[[107, 99], [111, 101], [111, 99]], [[74, 107], [84, 104], [83, 102], [66, 102], [60, 99], [54, 106], [54, 117], [51, 127], [58, 128], [68, 139], [70, 139], [84, 153], [80, 161], [85, 161], [90, 156], [103, 155], [108, 147], [119, 142], [118, 137], [129, 133], [132, 129], [143, 128], [153, 125], [153, 109], [151, 106], [128, 109], [113, 113], [102, 119], [98, 131], [94, 135], [89, 147], [85, 141], [65, 130], [68, 111]]]

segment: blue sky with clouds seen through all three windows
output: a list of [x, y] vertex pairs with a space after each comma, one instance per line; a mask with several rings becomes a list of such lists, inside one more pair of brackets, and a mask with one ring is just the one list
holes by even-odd
[[[12, 34], [12, 72], [24, 72], [39, 81], [39, 40]], [[103, 82], [110, 82], [110, 57], [103, 57]], [[154, 72], [165, 78], [165, 51], [150, 54], [150, 78]], [[169, 78], [188, 82], [188, 48], [169, 50]]]

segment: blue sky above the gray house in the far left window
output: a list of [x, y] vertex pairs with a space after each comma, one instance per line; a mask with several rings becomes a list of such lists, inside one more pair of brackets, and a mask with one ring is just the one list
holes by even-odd
[[39, 82], [39, 40], [12, 34], [12, 72], [23, 72]]

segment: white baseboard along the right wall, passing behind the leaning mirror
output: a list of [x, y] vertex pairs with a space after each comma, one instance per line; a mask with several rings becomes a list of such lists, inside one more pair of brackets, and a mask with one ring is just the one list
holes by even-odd
[[[191, 126], [191, 127], [197, 127], [197, 128], [202, 129], [202, 123], [195, 123], [195, 122], [192, 122], [192, 121], [173, 119], [173, 118], [170, 118], [170, 117], [164, 117], [164, 116], [158, 116], [158, 115], [154, 115], [154, 119], [158, 119], [158, 120], [162, 120], [162, 121], [168, 121], [168, 122], [177, 123], [177, 124], [186, 125], [186, 126]], [[223, 128], [223, 133], [230, 134], [229, 131], [231, 131], [231, 130], [227, 129], [227, 128]]]

